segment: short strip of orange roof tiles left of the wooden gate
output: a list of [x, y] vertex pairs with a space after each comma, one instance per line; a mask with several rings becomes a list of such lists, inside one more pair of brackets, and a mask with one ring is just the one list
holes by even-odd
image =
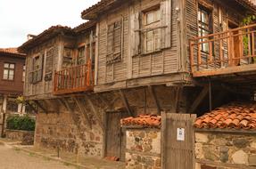
[[156, 115], [139, 115], [138, 117], [123, 118], [120, 123], [121, 125], [160, 127], [161, 117]]

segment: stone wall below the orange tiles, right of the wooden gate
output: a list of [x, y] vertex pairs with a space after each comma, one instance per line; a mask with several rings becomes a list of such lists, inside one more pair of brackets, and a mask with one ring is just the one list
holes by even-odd
[[195, 133], [195, 169], [255, 168], [256, 133]]

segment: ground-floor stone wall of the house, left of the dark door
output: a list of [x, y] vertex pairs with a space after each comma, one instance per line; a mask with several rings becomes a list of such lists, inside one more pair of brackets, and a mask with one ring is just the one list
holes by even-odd
[[91, 124], [78, 112], [38, 113], [35, 146], [102, 157], [103, 132], [94, 118]]

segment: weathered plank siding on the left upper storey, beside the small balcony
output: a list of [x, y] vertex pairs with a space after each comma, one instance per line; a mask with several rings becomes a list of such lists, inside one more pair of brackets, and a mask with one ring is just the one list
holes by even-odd
[[[85, 46], [85, 50], [87, 50], [87, 45], [90, 44], [90, 33], [90, 31], [87, 31], [80, 33], [78, 36], [54, 36], [53, 38], [45, 41], [45, 43], [38, 44], [30, 49], [26, 60], [27, 76], [25, 79], [24, 96], [29, 100], [53, 99], [59, 97], [53, 94], [54, 75], [56, 71], [60, 71], [64, 68], [64, 65], [62, 64], [64, 48], [68, 47], [72, 50], [72, 64], [74, 64], [74, 60], [78, 54], [78, 47]], [[94, 41], [92, 41], [92, 43], [94, 43]], [[50, 80], [45, 80], [46, 57], [44, 57], [42, 80], [37, 83], [30, 83], [29, 72], [33, 71], [33, 58], [39, 53], [44, 54], [45, 56], [46, 51], [51, 48], [54, 50], [52, 78]]]

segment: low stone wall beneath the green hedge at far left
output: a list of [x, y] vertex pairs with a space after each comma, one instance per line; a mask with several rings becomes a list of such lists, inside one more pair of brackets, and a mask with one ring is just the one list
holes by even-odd
[[34, 143], [33, 131], [5, 129], [5, 137], [13, 141], [21, 141], [22, 145], [33, 145]]

